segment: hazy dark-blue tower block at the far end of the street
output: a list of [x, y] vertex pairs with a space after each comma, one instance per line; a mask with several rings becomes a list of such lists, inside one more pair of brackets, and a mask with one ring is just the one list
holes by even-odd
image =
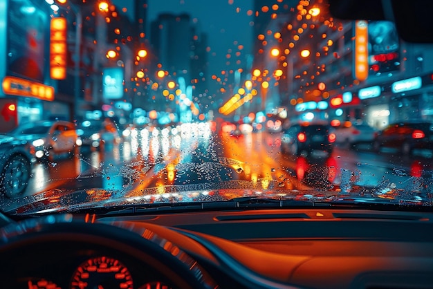
[[[166, 87], [165, 82], [169, 80], [174, 81], [176, 89], [185, 95], [182, 97], [187, 97], [189, 100], [196, 99], [194, 106], [202, 109], [197, 106], [202, 106], [199, 97], [203, 98], [206, 95], [205, 77], [208, 66], [205, 53], [206, 35], [196, 30], [190, 15], [187, 14], [158, 15], [158, 18], [151, 23], [150, 31], [150, 48], [155, 53], [160, 69], [166, 72], [164, 79], [160, 80], [159, 87]], [[160, 104], [162, 105], [162, 102]], [[181, 104], [182, 102], [178, 100], [167, 100], [165, 107], [158, 109], [178, 111]]]

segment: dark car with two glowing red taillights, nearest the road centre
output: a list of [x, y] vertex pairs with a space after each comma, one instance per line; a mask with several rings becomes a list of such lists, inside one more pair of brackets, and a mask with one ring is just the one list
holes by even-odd
[[282, 133], [281, 149], [297, 156], [315, 150], [331, 153], [334, 142], [335, 133], [327, 124], [293, 124]]

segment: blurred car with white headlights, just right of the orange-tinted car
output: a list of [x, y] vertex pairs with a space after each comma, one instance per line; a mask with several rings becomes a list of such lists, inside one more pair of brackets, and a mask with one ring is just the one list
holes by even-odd
[[83, 147], [91, 150], [100, 149], [106, 144], [120, 142], [120, 134], [116, 124], [109, 120], [84, 120], [77, 127], [77, 134]]

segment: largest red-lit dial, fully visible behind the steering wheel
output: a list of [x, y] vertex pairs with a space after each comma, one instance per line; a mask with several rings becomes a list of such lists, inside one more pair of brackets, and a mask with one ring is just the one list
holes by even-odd
[[117, 259], [95, 257], [78, 266], [72, 277], [71, 288], [132, 289], [133, 282], [128, 268]]

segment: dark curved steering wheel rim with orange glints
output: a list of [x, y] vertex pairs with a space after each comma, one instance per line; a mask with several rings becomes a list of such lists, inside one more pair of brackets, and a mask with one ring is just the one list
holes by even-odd
[[[34, 219], [32, 219], [36, 223]], [[15, 224], [15, 232], [8, 226], [0, 230], [0, 258], [7, 260], [14, 254], [19, 254], [23, 248], [38, 244], [53, 244], [62, 247], [62, 242], [82, 242], [88, 245], [98, 245], [108, 248], [118, 254], [138, 259], [143, 264], [154, 268], [170, 281], [176, 288], [210, 288], [214, 284], [209, 280], [200, 279], [203, 276], [196, 263], [176, 245], [161, 238], [154, 232], [136, 232], [131, 228], [122, 228], [105, 223], [71, 222], [37, 222], [33, 227], [28, 224]], [[23, 234], [23, 231], [26, 231]], [[19, 234], [21, 232], [21, 234]], [[15, 255], [16, 256], [16, 255]], [[191, 264], [192, 263], [192, 264]], [[0, 277], [6, 272], [0, 272]], [[9, 276], [5, 276], [9, 277]]]

